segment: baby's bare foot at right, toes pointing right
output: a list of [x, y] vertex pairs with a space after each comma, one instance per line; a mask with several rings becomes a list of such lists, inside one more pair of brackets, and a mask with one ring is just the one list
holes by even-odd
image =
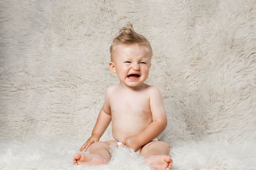
[[173, 160], [167, 155], [152, 155], [145, 160], [155, 170], [170, 170], [173, 165]]

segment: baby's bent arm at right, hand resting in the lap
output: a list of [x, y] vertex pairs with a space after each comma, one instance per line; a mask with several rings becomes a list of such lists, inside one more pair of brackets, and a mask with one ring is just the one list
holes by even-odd
[[131, 136], [124, 140], [127, 147], [135, 150], [158, 137], [167, 125], [166, 112], [159, 89], [151, 86], [149, 94], [152, 123], [137, 136]]

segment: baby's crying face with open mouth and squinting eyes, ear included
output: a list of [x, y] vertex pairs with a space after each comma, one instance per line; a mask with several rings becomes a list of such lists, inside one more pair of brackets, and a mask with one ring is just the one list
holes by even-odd
[[122, 85], [135, 87], [143, 84], [149, 75], [151, 51], [148, 47], [118, 44], [113, 53], [110, 68], [118, 74]]

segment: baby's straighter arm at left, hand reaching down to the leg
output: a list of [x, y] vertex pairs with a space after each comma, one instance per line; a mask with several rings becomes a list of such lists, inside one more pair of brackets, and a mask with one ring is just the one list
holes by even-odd
[[98, 114], [98, 119], [93, 128], [92, 136], [82, 145], [82, 147], [79, 149], [80, 151], [86, 151], [92, 143], [98, 142], [99, 138], [103, 135], [109, 123], [111, 122], [111, 110], [108, 98], [109, 88], [106, 90], [105, 102]]

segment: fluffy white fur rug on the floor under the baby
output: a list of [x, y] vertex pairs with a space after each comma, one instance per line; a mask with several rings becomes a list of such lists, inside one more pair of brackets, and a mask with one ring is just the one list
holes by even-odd
[[[8, 138], [0, 142], [1, 170], [151, 170], [141, 156], [126, 148], [113, 147], [108, 164], [88, 167], [72, 164], [80, 145], [76, 140]], [[173, 170], [255, 170], [255, 153], [255, 143], [209, 139], [175, 143], [171, 151]]]

